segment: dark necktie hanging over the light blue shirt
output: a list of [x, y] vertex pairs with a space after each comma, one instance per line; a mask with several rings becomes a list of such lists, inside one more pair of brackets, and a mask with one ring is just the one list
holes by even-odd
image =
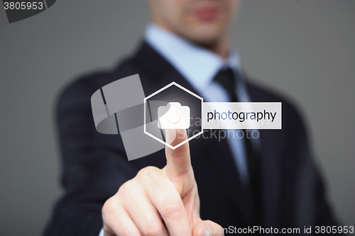
[[[221, 84], [226, 90], [229, 100], [231, 102], [237, 102], [238, 98], [236, 96], [236, 77], [239, 74], [234, 74], [231, 69], [222, 69], [218, 72], [214, 81]], [[245, 130], [244, 130], [245, 131]], [[261, 226], [262, 222], [262, 205], [261, 205], [261, 179], [260, 171], [258, 167], [258, 153], [254, 152], [253, 146], [251, 144], [251, 139], [246, 137], [244, 133], [244, 147], [246, 148], [246, 156], [248, 159], [248, 169], [249, 169], [249, 188], [246, 191], [250, 191], [252, 198], [252, 208], [253, 208], [253, 218], [254, 225]]]

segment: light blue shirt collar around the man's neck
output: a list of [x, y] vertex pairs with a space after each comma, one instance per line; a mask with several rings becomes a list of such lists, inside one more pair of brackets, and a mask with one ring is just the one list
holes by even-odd
[[241, 72], [241, 62], [236, 49], [224, 60], [219, 55], [199, 47], [168, 30], [151, 23], [146, 28], [146, 42], [187, 79], [197, 90], [203, 91], [212, 83], [223, 67]]

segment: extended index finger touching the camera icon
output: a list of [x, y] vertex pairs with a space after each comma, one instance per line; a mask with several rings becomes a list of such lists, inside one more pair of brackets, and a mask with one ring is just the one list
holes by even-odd
[[[187, 140], [185, 129], [166, 129], [165, 135], [166, 142], [173, 147]], [[165, 172], [170, 181], [175, 182], [192, 170], [189, 142], [185, 142], [185, 144], [175, 148], [175, 150], [165, 145], [165, 155]]]

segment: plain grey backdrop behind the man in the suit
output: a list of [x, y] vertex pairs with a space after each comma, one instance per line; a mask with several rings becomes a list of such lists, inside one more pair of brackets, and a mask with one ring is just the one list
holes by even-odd
[[[0, 9], [0, 235], [40, 235], [61, 194], [53, 104], [141, 38], [146, 1], [57, 1], [7, 23]], [[329, 197], [355, 225], [355, 1], [244, 1], [234, 42], [249, 75], [304, 112]]]

